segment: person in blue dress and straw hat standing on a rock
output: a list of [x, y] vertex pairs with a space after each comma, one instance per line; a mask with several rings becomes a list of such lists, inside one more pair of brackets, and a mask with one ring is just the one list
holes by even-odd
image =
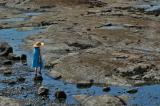
[[44, 45], [43, 42], [36, 42], [33, 45], [34, 52], [33, 52], [32, 67], [35, 68], [35, 76], [37, 76], [38, 73], [41, 75], [41, 69], [43, 67], [41, 46], [43, 45]]

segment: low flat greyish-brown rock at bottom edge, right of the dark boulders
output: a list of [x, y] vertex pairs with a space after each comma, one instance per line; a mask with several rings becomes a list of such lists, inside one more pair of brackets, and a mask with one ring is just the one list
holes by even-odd
[[119, 99], [110, 95], [102, 96], [87, 96], [76, 95], [74, 98], [81, 103], [82, 106], [125, 106], [126, 103], [122, 102], [123, 98]]

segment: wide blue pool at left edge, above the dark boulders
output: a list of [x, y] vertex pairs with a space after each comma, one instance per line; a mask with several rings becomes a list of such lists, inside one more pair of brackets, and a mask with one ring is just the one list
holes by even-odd
[[17, 54], [24, 54], [25, 51], [23, 51], [20, 47], [20, 45], [23, 44], [23, 39], [31, 34], [37, 34], [42, 31], [42, 28], [33, 28], [31, 30], [25, 30], [20, 31], [16, 28], [10, 28], [10, 29], [1, 29], [0, 30], [0, 39], [1, 41], [8, 42], [10, 45], [12, 45], [13, 50]]

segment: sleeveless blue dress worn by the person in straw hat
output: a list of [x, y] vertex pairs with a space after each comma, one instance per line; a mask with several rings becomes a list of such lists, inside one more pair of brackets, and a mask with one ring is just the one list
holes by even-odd
[[42, 57], [40, 55], [40, 48], [39, 47], [34, 48], [32, 67], [34, 67], [34, 68], [38, 68], [38, 67], [42, 68], [43, 67], [43, 62], [42, 62]]

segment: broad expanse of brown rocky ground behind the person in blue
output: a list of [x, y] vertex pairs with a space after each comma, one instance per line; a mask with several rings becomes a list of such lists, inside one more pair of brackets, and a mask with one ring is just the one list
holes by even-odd
[[[24, 11], [40, 12], [30, 20], [1, 23], [3, 28], [43, 27], [25, 39], [24, 47], [43, 41], [51, 76], [67, 82], [139, 86], [159, 84], [160, 6], [147, 0], [0, 0], [15, 18]], [[23, 17], [23, 16], [22, 16]], [[22, 28], [23, 27], [23, 28]]]

